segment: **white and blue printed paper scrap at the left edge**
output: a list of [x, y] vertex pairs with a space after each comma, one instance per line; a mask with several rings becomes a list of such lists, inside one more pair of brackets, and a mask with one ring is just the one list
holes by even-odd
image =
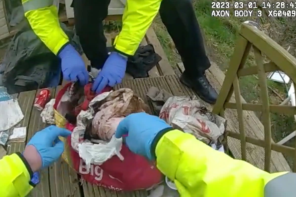
[[[2, 132], [6, 132], [24, 118], [18, 101], [13, 99], [3, 86], [0, 87], [0, 111], [5, 112], [5, 115], [0, 118], [0, 131]], [[5, 136], [4, 133], [0, 135]]]

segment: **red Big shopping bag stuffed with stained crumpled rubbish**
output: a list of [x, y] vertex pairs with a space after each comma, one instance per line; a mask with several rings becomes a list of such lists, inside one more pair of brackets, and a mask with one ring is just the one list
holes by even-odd
[[54, 113], [57, 126], [72, 131], [67, 139], [61, 139], [65, 142], [65, 161], [82, 179], [113, 190], [132, 191], [159, 184], [162, 174], [155, 163], [132, 153], [123, 139], [114, 135], [124, 117], [148, 113], [148, 106], [128, 88], [113, 91], [107, 87], [95, 95], [90, 87], [66, 84], [57, 94], [54, 112], [49, 103], [42, 111], [44, 121], [50, 121], [46, 117]]

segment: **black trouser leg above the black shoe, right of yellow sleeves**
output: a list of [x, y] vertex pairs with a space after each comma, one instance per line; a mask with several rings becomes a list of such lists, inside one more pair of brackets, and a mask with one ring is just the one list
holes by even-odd
[[181, 55], [188, 76], [203, 74], [210, 67], [192, 0], [163, 0], [160, 17]]

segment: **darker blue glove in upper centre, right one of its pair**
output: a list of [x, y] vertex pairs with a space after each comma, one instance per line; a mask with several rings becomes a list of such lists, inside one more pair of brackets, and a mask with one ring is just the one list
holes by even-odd
[[126, 63], [128, 58], [117, 52], [111, 52], [107, 58], [102, 71], [96, 77], [92, 86], [92, 91], [99, 93], [109, 85], [110, 87], [121, 83], [126, 73]]

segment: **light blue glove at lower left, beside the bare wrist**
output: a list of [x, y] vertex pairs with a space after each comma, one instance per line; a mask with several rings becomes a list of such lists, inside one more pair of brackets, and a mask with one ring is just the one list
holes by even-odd
[[55, 162], [61, 154], [64, 152], [64, 143], [59, 140], [58, 136], [67, 137], [71, 134], [71, 132], [65, 128], [59, 128], [57, 126], [49, 126], [44, 128], [41, 131], [35, 133], [35, 135], [30, 139], [28, 142], [24, 156], [28, 160], [29, 164], [30, 161], [33, 162], [33, 158], [36, 157], [33, 151], [30, 153], [26, 153], [27, 147], [33, 145], [37, 152], [40, 154], [41, 157], [41, 168], [48, 167], [50, 164]]

